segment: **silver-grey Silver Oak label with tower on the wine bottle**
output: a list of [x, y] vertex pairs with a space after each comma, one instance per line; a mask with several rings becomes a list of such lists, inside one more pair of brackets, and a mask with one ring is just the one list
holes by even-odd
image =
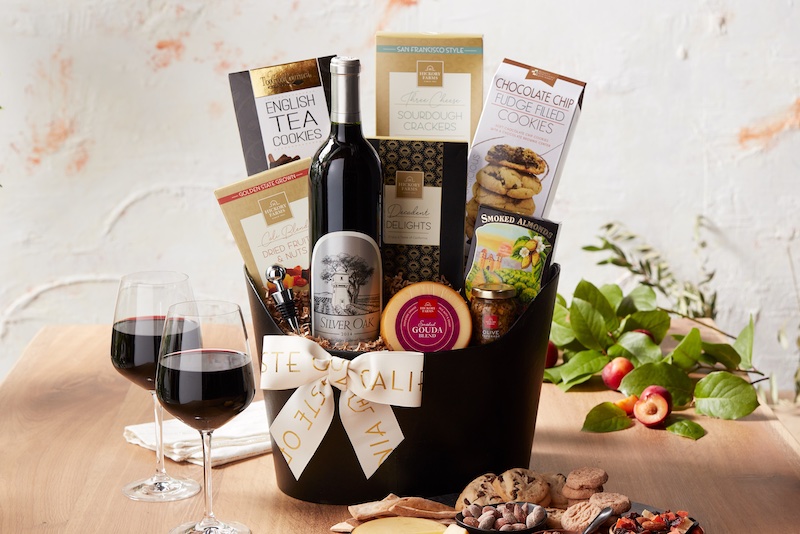
[[372, 341], [380, 333], [383, 274], [374, 239], [331, 232], [311, 254], [311, 333], [333, 343]]

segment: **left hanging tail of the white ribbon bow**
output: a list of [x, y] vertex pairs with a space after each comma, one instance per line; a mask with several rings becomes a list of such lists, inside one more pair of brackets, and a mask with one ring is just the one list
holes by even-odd
[[295, 480], [300, 479], [328, 432], [333, 411], [333, 389], [321, 379], [297, 388], [270, 425], [273, 443]]

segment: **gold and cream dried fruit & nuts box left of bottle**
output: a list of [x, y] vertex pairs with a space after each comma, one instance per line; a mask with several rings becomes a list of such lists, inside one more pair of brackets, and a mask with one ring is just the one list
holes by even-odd
[[263, 290], [268, 289], [264, 273], [274, 264], [289, 273], [287, 287], [308, 289], [310, 163], [310, 158], [292, 161], [214, 191], [247, 272]]

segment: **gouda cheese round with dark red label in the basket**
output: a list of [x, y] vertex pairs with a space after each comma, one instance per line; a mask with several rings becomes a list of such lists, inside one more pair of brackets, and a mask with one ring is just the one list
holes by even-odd
[[472, 336], [466, 301], [438, 282], [417, 282], [398, 291], [383, 310], [381, 336], [392, 350], [461, 349]]

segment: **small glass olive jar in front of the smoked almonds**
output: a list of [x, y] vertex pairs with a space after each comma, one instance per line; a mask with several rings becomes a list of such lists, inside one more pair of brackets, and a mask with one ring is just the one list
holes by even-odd
[[478, 345], [496, 341], [511, 329], [517, 318], [517, 290], [502, 283], [472, 288], [472, 340]]

